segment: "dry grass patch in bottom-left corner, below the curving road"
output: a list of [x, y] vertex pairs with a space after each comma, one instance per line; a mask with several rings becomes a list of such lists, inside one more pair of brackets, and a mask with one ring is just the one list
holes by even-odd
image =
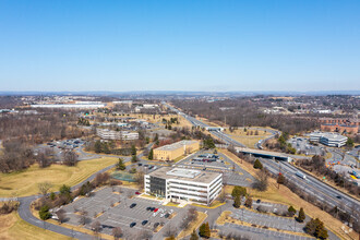
[[71, 238], [27, 224], [20, 218], [16, 212], [13, 212], [8, 215], [0, 215], [0, 239], [65, 240]]

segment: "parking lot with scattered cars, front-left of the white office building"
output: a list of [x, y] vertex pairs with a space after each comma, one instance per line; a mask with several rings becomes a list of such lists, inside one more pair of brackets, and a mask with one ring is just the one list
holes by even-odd
[[89, 197], [81, 197], [64, 206], [67, 224], [80, 225], [80, 213], [86, 212], [85, 228], [92, 229], [92, 224], [99, 221], [101, 233], [111, 235], [115, 227], [120, 227], [124, 238], [139, 239], [144, 233], [159, 235], [154, 230], [168, 225], [179, 212], [179, 208], [163, 206], [158, 201], [139, 197], [135, 190], [118, 187], [113, 190], [104, 188]]

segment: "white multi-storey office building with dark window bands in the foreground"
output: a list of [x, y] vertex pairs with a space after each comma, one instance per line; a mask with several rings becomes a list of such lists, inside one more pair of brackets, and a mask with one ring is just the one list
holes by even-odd
[[144, 176], [145, 192], [209, 205], [221, 192], [223, 173], [163, 167]]

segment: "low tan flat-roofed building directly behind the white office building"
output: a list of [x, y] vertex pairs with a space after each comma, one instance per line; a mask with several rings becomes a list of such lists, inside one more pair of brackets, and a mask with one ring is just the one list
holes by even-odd
[[154, 159], [173, 160], [182, 155], [190, 154], [200, 148], [199, 141], [183, 140], [154, 149]]

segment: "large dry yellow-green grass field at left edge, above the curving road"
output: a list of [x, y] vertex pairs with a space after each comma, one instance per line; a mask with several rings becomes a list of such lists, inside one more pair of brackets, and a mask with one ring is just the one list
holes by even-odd
[[83, 160], [76, 167], [52, 165], [48, 168], [39, 168], [33, 165], [20, 172], [0, 173], [0, 196], [26, 196], [38, 193], [37, 183], [49, 181], [53, 184], [52, 191], [58, 191], [62, 184], [75, 185], [94, 172], [113, 165], [118, 158], [97, 158]]

